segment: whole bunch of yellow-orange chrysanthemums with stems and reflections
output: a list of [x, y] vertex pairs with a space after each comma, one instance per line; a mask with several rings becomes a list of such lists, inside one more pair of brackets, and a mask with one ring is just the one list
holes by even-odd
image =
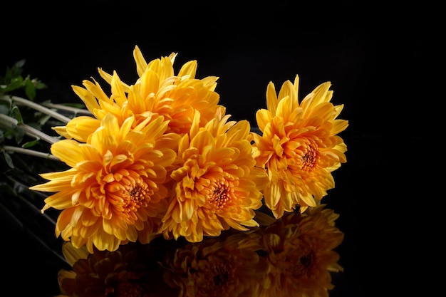
[[253, 127], [231, 119], [197, 61], [175, 71], [177, 53], [147, 62], [135, 46], [133, 57], [135, 83], [99, 68], [106, 85], [73, 85], [79, 105], [33, 102], [43, 84], [16, 68], [1, 82], [6, 163], [51, 162], [28, 189], [44, 194], [42, 214], [57, 211], [71, 267], [60, 296], [328, 296], [343, 232], [322, 200], [348, 126], [331, 83], [301, 100], [298, 75], [279, 92], [269, 83]]

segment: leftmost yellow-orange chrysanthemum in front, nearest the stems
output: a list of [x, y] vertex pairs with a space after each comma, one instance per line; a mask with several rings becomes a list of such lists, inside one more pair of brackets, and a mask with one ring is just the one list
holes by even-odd
[[120, 126], [108, 114], [88, 143], [54, 143], [51, 153], [71, 168], [41, 174], [49, 181], [31, 187], [56, 192], [45, 199], [42, 212], [63, 209], [56, 235], [71, 239], [76, 248], [86, 244], [90, 252], [93, 246], [114, 251], [128, 241], [147, 243], [167, 209], [170, 189], [164, 183], [177, 139], [164, 134], [162, 118], [132, 129], [134, 120]]

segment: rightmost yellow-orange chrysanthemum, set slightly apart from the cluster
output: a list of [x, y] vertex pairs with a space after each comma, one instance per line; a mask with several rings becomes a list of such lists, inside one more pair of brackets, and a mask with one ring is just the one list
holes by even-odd
[[323, 83], [299, 104], [299, 76], [287, 80], [276, 94], [273, 83], [266, 90], [267, 109], [258, 110], [261, 135], [254, 133], [254, 157], [266, 168], [269, 183], [265, 204], [276, 218], [316, 206], [334, 187], [331, 174], [346, 162], [347, 147], [338, 135], [348, 121], [337, 119], [343, 105], [333, 105], [331, 83]]

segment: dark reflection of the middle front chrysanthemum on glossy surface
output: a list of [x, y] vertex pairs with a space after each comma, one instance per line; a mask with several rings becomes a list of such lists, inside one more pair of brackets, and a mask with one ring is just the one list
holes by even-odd
[[187, 244], [167, 259], [165, 281], [180, 288], [179, 297], [258, 297], [268, 272], [259, 256], [260, 236], [239, 232]]

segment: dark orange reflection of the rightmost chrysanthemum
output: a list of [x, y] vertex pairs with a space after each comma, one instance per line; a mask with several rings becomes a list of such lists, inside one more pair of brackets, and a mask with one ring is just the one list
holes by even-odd
[[263, 231], [269, 273], [261, 281], [259, 297], [328, 297], [331, 271], [342, 271], [333, 251], [343, 241], [335, 226], [338, 214], [325, 204], [284, 214]]

